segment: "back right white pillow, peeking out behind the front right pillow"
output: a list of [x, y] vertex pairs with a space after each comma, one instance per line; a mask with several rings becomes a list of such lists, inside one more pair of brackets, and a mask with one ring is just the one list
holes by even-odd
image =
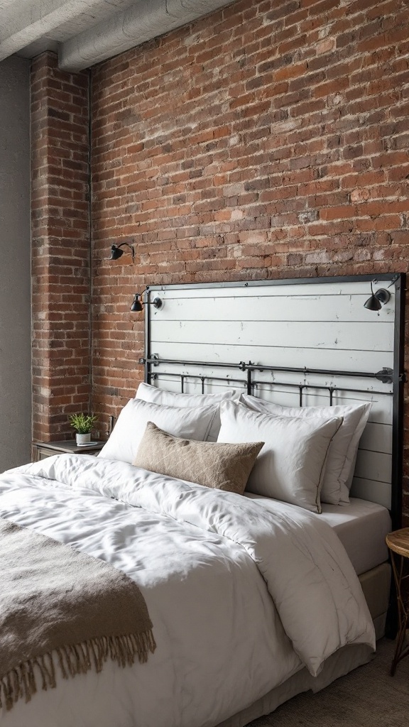
[[334, 435], [328, 452], [321, 501], [331, 505], [348, 505], [349, 489], [354, 476], [358, 444], [368, 422], [370, 403], [346, 406], [279, 406], [269, 401], [242, 394], [240, 401], [253, 411], [261, 411], [274, 417], [342, 417], [343, 422]]

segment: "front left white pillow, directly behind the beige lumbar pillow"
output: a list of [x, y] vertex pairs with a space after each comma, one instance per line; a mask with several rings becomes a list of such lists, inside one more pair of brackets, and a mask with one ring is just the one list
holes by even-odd
[[218, 404], [182, 409], [130, 399], [119, 414], [111, 436], [98, 457], [119, 459], [132, 465], [148, 422], [154, 422], [174, 437], [204, 441], [217, 413]]

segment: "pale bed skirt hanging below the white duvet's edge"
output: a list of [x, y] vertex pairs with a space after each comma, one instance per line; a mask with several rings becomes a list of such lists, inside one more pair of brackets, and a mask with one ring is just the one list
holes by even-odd
[[[391, 566], [389, 563], [382, 563], [360, 576], [362, 591], [365, 595], [370, 615], [375, 625], [376, 638], [381, 638], [385, 633], [386, 612], [389, 604], [389, 590], [391, 585]], [[237, 712], [234, 717], [225, 720], [217, 727], [245, 727], [249, 722], [269, 715], [270, 712], [287, 702], [287, 699], [303, 691], [320, 691], [328, 686], [338, 677], [348, 674], [356, 667], [367, 664], [373, 656], [368, 646], [357, 644], [357, 646], [344, 646], [325, 662], [325, 666], [317, 677], [311, 677], [306, 669], [294, 674], [280, 686], [271, 689], [268, 694], [250, 704], [250, 707]]]

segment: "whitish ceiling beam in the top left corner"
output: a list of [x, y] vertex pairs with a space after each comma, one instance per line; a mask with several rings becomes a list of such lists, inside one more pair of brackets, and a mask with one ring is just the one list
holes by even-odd
[[90, 14], [101, 0], [33, 0], [10, 4], [0, 26], [0, 61], [16, 53], [45, 33], [82, 13]]

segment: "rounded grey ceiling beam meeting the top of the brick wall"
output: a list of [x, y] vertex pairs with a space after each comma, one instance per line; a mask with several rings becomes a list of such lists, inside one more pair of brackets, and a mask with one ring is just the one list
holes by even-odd
[[62, 43], [60, 68], [82, 71], [229, 4], [231, 0], [139, 0]]

